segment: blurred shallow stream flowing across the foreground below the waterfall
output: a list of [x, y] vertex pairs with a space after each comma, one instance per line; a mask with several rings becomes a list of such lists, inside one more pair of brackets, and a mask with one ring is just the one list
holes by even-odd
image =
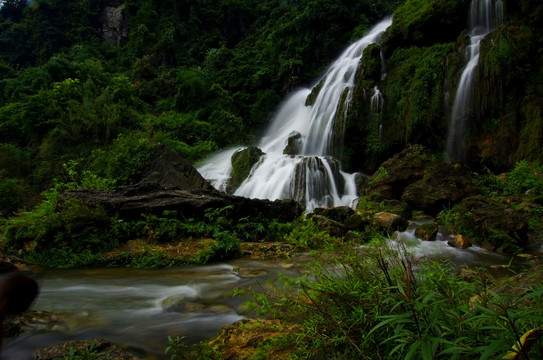
[[[478, 247], [460, 250], [447, 245], [447, 234], [436, 241], [414, 236], [416, 223], [396, 233], [417, 257], [448, 259], [453, 265], [508, 264], [510, 258]], [[5, 339], [4, 358], [33, 359], [36, 350], [76, 339], [105, 338], [125, 344], [145, 359], [167, 359], [168, 336], [188, 342], [211, 338], [224, 325], [248, 315], [233, 297], [235, 288], [277, 284], [279, 276], [297, 277], [310, 260], [304, 254], [281, 263], [234, 260], [204, 266], [157, 270], [80, 269], [47, 270], [36, 274], [41, 292], [35, 310], [58, 313], [65, 324], [52, 331], [36, 331]]]

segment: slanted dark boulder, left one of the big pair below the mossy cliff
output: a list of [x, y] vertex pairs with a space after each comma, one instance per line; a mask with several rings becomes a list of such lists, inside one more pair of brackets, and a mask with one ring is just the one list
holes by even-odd
[[385, 161], [370, 177], [365, 195], [374, 200], [400, 200], [404, 189], [422, 179], [432, 165], [430, 152], [421, 145], [413, 145]]

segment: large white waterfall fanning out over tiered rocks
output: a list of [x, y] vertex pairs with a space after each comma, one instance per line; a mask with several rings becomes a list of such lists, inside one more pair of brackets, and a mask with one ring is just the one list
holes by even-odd
[[[283, 102], [257, 145], [265, 155], [235, 195], [296, 199], [306, 205], [307, 211], [319, 206], [353, 204], [357, 175], [343, 172], [332, 156], [333, 145], [343, 138], [343, 134], [337, 133], [342, 127], [336, 124], [336, 113], [338, 109], [348, 109], [364, 49], [377, 42], [391, 23], [391, 18], [383, 20], [340, 55], [318, 83], [320, 90], [312, 105], [306, 105], [310, 89], [298, 90]], [[289, 146], [291, 150], [285, 154], [285, 147], [293, 145], [291, 142], [295, 146]], [[219, 190], [226, 187], [231, 170], [227, 159], [235, 151], [222, 152], [198, 167], [202, 176]]]

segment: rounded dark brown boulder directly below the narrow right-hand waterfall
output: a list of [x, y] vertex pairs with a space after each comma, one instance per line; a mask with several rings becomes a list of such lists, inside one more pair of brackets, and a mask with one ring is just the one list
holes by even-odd
[[473, 174], [465, 166], [439, 162], [424, 177], [408, 185], [402, 200], [411, 207], [436, 215], [479, 189], [473, 185]]

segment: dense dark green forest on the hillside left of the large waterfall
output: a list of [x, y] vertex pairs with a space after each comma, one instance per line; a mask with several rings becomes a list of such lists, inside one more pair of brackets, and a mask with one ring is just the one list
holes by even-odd
[[[4, 1], [2, 214], [36, 204], [70, 161], [122, 185], [157, 142], [193, 161], [249, 142], [397, 3]], [[122, 15], [112, 43], [106, 7]]]

